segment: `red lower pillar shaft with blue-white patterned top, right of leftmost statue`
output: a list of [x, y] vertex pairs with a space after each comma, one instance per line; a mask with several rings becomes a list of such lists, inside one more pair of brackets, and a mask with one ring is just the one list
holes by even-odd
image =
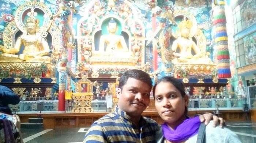
[[67, 74], [59, 72], [59, 108], [58, 111], [65, 111], [65, 90]]

